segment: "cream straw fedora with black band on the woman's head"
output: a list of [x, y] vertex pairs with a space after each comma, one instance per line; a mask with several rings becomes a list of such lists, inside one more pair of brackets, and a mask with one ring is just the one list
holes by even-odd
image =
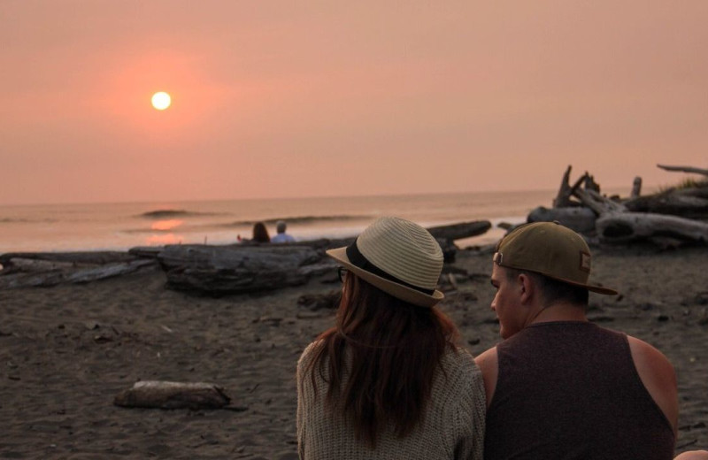
[[425, 228], [394, 217], [376, 219], [357, 240], [327, 256], [376, 288], [405, 302], [432, 307], [443, 300], [437, 287], [443, 249]]

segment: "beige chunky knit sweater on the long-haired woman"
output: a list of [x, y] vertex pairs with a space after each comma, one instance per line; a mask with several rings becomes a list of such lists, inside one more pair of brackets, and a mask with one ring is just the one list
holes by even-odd
[[[317, 395], [305, 370], [317, 342], [297, 363], [297, 443], [303, 460], [482, 459], [485, 395], [479, 367], [464, 349], [443, 355], [421, 423], [404, 438], [392, 427], [381, 432], [376, 449], [357, 440], [352, 420], [325, 409], [327, 382], [317, 376]], [[327, 372], [327, 371], [326, 371]], [[326, 373], [327, 375], [327, 373]]]

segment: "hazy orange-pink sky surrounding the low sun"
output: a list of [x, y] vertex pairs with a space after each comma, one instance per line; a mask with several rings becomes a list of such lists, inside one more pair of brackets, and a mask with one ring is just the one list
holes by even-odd
[[2, 0], [0, 203], [670, 184], [657, 163], [708, 167], [706, 24], [705, 0]]

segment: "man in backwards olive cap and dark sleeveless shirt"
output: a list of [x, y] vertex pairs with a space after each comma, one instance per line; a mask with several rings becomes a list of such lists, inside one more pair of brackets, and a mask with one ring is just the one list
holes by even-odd
[[589, 323], [590, 252], [551, 222], [499, 242], [491, 282], [504, 341], [477, 357], [485, 459], [673, 457], [676, 375], [648, 343]]

